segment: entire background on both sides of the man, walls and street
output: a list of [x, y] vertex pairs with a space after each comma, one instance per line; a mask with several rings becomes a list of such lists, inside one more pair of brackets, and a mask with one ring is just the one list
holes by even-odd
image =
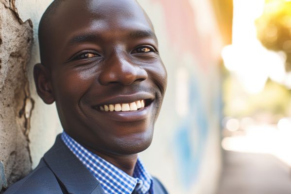
[[[5, 90], [0, 98], [0, 190], [34, 169], [62, 132], [32, 73], [39, 19], [51, 1], [0, 0], [1, 45], [22, 45], [26, 39], [16, 37], [33, 31], [27, 63], [0, 53], [0, 88], [12, 96]], [[291, 194], [291, 0], [138, 2], [168, 71], [153, 143], [140, 154], [150, 173], [170, 194]], [[8, 79], [17, 64], [28, 83], [25, 100], [17, 97], [19, 82]], [[22, 105], [27, 99], [32, 104]], [[27, 105], [22, 129], [19, 110]]]

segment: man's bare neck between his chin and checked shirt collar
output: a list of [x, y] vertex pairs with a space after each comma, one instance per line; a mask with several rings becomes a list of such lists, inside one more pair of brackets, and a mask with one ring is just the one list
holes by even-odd
[[93, 152], [97, 156], [110, 162], [111, 164], [113, 164], [114, 166], [116, 166], [117, 168], [125, 172], [127, 175], [133, 176], [135, 166], [137, 163], [137, 154], [132, 154], [132, 155], [118, 155], [118, 154], [111, 154], [111, 153], [104, 154], [96, 150], [91, 150], [90, 148], [87, 148], [87, 149], [89, 149], [91, 152]]

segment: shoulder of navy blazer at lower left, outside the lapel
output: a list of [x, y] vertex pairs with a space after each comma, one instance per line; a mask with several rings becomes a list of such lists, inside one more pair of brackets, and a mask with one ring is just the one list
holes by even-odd
[[29, 175], [11, 185], [4, 194], [62, 194], [57, 178], [43, 159]]

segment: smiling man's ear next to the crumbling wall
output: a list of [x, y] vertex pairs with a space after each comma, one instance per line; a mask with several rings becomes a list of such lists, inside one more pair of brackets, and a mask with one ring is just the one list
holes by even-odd
[[46, 104], [54, 102], [54, 93], [51, 84], [51, 71], [49, 68], [38, 63], [34, 65], [34, 83], [40, 98]]

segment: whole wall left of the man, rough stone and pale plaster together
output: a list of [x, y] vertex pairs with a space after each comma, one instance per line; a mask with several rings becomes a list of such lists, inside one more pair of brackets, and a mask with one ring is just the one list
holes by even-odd
[[27, 175], [61, 132], [55, 106], [42, 102], [33, 79], [38, 23], [51, 1], [0, 0], [0, 193]]

